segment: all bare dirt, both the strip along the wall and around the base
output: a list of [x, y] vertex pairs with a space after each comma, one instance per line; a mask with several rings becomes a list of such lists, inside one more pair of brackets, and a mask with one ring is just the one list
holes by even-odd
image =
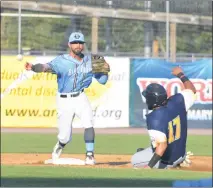
[[[83, 133], [84, 129], [73, 129], [73, 133]], [[56, 128], [1, 128], [2, 133], [57, 133]], [[97, 134], [147, 134], [145, 128], [99, 128]], [[189, 129], [192, 135], [212, 135], [212, 129]], [[84, 160], [84, 155], [62, 154], [61, 157], [77, 158]], [[130, 164], [131, 155], [95, 155], [95, 166], [78, 166], [79, 168], [132, 168]], [[51, 166], [45, 165], [44, 161], [51, 158], [51, 154], [1, 154], [1, 164], [6, 165], [30, 165], [30, 166]], [[181, 170], [207, 171], [212, 172], [212, 157], [192, 156], [192, 165]]]

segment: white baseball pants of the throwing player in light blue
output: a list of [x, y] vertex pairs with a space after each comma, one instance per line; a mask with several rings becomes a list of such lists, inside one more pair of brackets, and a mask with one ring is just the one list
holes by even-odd
[[[64, 94], [64, 93], [63, 93]], [[67, 93], [66, 93], [67, 94]], [[57, 94], [58, 140], [67, 144], [72, 139], [72, 122], [77, 115], [84, 128], [93, 127], [93, 114], [90, 102], [84, 92], [77, 97], [60, 97]]]

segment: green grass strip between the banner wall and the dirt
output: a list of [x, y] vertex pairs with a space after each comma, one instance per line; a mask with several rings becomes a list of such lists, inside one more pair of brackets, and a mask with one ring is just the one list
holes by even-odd
[[[57, 141], [55, 134], [3, 133], [1, 135], [2, 153], [51, 153]], [[95, 153], [97, 154], [133, 154], [139, 147], [148, 147], [147, 135], [97, 135]], [[187, 151], [194, 155], [212, 155], [211, 136], [188, 137]], [[85, 144], [82, 134], [74, 134], [64, 153], [84, 153]]]

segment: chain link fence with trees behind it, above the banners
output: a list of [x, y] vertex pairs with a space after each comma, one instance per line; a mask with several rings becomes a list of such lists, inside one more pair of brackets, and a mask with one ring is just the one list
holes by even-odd
[[[97, 26], [92, 17], [77, 14], [58, 13], [54, 10], [39, 11], [26, 9], [22, 2], [21, 10], [21, 53], [26, 55], [57, 55], [68, 52], [68, 37], [72, 31], [81, 31], [86, 39], [86, 51], [92, 52], [93, 43], [97, 42], [97, 53], [109, 56], [166, 58], [174, 61], [189, 61], [212, 57], [212, 25], [199, 22], [195, 24], [171, 23], [169, 31], [166, 22], [115, 17], [98, 17]], [[37, 3], [52, 3], [70, 6], [84, 6], [116, 11], [165, 13], [166, 3], [139, 0], [44, 0]], [[176, 14], [177, 20], [182, 15], [191, 19], [211, 18], [212, 1], [179, 0], [170, 1], [169, 15]], [[95, 9], [94, 9], [95, 10]], [[17, 54], [18, 51], [18, 7], [1, 7], [1, 53]], [[170, 18], [170, 16], [169, 16]], [[95, 28], [96, 27], [96, 28]], [[93, 32], [97, 32], [97, 41]], [[167, 35], [169, 33], [169, 38]], [[169, 47], [168, 40], [169, 39]]]

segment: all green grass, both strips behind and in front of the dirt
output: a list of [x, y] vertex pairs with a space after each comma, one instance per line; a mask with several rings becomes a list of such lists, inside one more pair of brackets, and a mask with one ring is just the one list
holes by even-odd
[[[55, 134], [2, 133], [3, 153], [51, 153]], [[95, 153], [133, 154], [138, 147], [149, 146], [146, 135], [97, 135]], [[212, 155], [211, 136], [189, 136], [187, 150], [195, 155]], [[85, 153], [83, 135], [73, 135], [64, 153]], [[102, 169], [50, 166], [1, 167], [1, 186], [49, 187], [168, 187], [174, 180], [212, 177], [210, 172], [147, 169]]]

